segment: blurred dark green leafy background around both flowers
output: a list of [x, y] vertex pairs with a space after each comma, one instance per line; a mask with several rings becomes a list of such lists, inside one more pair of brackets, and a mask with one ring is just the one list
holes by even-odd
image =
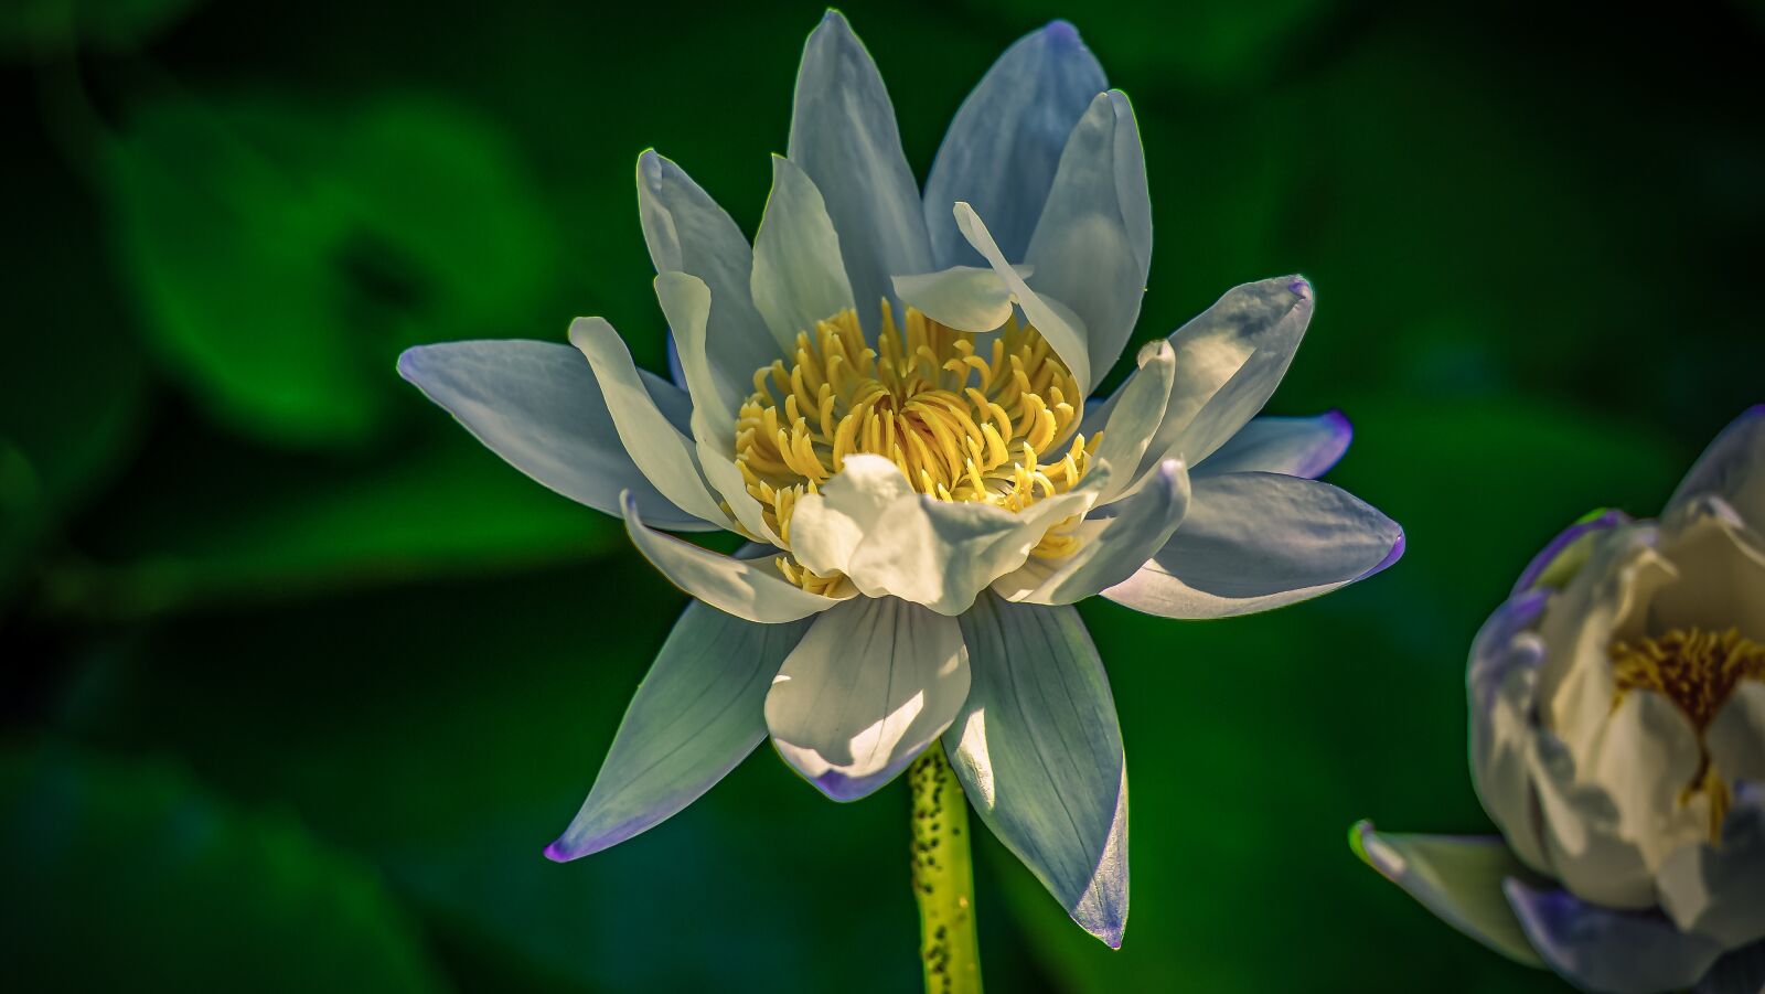
[[[909, 990], [907, 796], [757, 752], [540, 856], [683, 597], [394, 374], [605, 314], [662, 369], [632, 166], [748, 231], [815, 4], [0, 11], [0, 959], [14, 989]], [[1073, 19], [1135, 101], [1140, 339], [1304, 272], [1274, 413], [1391, 572], [1267, 616], [1084, 606], [1133, 770], [1126, 948], [980, 842], [995, 990], [1553, 990], [1361, 867], [1486, 830], [1463, 657], [1525, 560], [1765, 399], [1765, 14], [1276, 0], [847, 7], [923, 177]], [[1119, 374], [1119, 371], [1117, 371]]]

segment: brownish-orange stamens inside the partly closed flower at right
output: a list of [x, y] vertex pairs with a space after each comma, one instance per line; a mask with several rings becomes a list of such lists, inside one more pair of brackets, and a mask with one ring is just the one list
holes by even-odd
[[1765, 680], [1765, 644], [1744, 637], [1739, 629], [1707, 632], [1698, 627], [1673, 629], [1661, 637], [1643, 637], [1634, 644], [1613, 643], [1611, 671], [1617, 678], [1613, 710], [1631, 690], [1654, 690], [1673, 701], [1698, 729], [1701, 761], [1691, 784], [1680, 791], [1680, 803], [1698, 793], [1710, 798], [1710, 840], [1723, 840], [1723, 819], [1733, 805], [1728, 780], [1716, 770], [1705, 729], [1728, 703], [1742, 680]]

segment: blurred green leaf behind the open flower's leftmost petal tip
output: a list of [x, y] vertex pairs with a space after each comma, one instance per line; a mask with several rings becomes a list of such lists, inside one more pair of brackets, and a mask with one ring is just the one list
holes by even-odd
[[[145, 616], [434, 576], [581, 561], [623, 547], [600, 512], [508, 468], [452, 422], [383, 457], [293, 457], [226, 440], [129, 477], [46, 574], [65, 614]], [[447, 424], [443, 424], [447, 422]]]

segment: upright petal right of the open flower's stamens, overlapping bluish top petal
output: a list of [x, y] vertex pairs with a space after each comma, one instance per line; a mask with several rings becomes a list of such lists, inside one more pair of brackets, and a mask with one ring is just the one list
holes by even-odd
[[1145, 159], [1119, 90], [1098, 94], [1073, 127], [1024, 261], [1036, 267], [1040, 293], [1084, 318], [1101, 376], [1133, 334], [1153, 267]]

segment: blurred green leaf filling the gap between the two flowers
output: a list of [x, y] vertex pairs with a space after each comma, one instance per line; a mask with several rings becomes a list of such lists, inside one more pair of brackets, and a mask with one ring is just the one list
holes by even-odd
[[1675, 461], [1631, 425], [1518, 401], [1350, 411], [1354, 448], [1329, 478], [1405, 526], [1391, 570], [1221, 621], [1082, 607], [1133, 784], [1123, 950], [1073, 929], [1008, 860], [983, 867], [1073, 990], [1403, 990], [1419, 962], [1454, 990], [1557, 989], [1366, 872], [1341, 826], [1490, 830], [1465, 763], [1472, 634], [1555, 531], [1588, 505], [1650, 512]]

